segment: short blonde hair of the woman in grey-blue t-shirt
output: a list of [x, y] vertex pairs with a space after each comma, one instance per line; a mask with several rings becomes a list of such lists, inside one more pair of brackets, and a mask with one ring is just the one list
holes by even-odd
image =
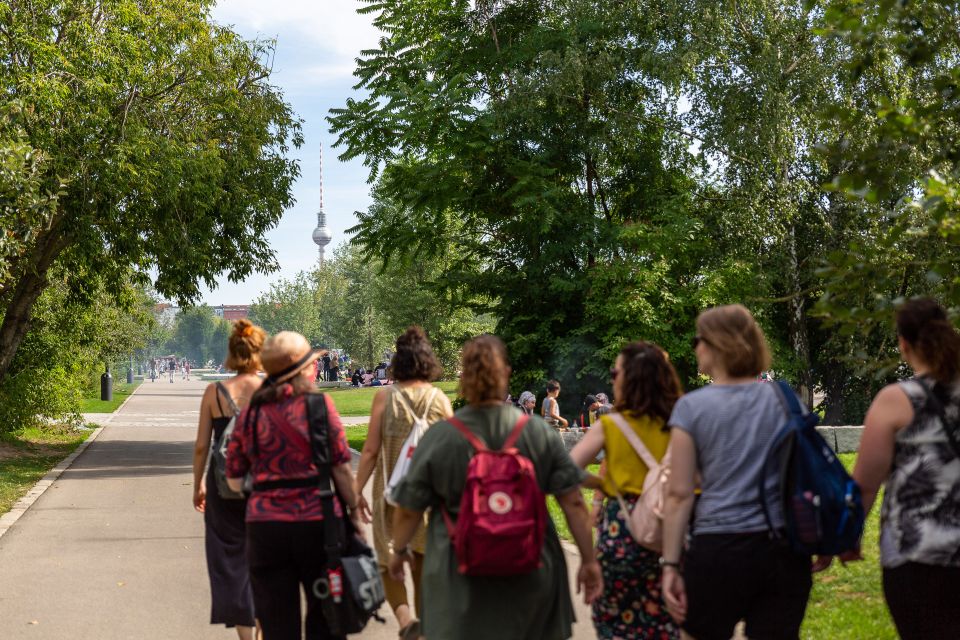
[[707, 309], [697, 317], [697, 334], [717, 354], [728, 375], [758, 376], [770, 368], [763, 329], [742, 304]]

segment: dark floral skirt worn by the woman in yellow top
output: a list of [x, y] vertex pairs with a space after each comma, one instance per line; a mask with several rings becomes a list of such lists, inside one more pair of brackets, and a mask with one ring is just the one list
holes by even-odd
[[[637, 498], [626, 498], [632, 509]], [[607, 500], [597, 539], [603, 595], [593, 603], [593, 625], [603, 640], [676, 640], [680, 629], [663, 602], [660, 555], [630, 536], [620, 503]]]

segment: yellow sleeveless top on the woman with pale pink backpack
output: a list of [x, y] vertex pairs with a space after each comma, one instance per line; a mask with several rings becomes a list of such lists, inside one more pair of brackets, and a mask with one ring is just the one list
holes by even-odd
[[[621, 414], [640, 441], [647, 446], [657, 460], [662, 460], [670, 444], [670, 432], [663, 430], [663, 420], [650, 416], [637, 416], [633, 413]], [[604, 462], [606, 474], [603, 479], [603, 492], [608, 496], [616, 495], [609, 478], [620, 487], [621, 494], [640, 495], [643, 493], [643, 481], [647, 477], [647, 465], [630, 446], [630, 441], [620, 431], [620, 427], [609, 415], [600, 416], [599, 424], [592, 428], [603, 429]]]

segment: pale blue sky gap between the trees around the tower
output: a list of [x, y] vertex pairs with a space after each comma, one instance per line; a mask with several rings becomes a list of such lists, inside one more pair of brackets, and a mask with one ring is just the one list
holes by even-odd
[[214, 290], [203, 289], [209, 305], [249, 304], [279, 278], [311, 269], [317, 246], [311, 234], [320, 207], [320, 156], [323, 153], [323, 201], [333, 242], [327, 256], [344, 241], [356, 223], [354, 212], [370, 204], [368, 172], [360, 160], [344, 163], [332, 148], [336, 137], [325, 120], [333, 107], [343, 106], [353, 90], [354, 60], [362, 49], [374, 48], [379, 32], [373, 16], [356, 13], [359, 0], [220, 0], [213, 11], [220, 24], [232, 25], [246, 38], [277, 41], [271, 82], [303, 119], [304, 145], [292, 150], [300, 160], [300, 179], [293, 187], [296, 204], [268, 234], [280, 271], [253, 274], [241, 283], [224, 275]]

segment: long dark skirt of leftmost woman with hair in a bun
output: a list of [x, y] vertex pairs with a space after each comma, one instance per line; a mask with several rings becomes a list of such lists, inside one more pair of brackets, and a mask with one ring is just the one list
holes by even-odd
[[210, 624], [254, 626], [253, 591], [247, 567], [246, 500], [224, 500], [217, 493], [213, 465], [207, 469], [205, 546], [210, 575]]

